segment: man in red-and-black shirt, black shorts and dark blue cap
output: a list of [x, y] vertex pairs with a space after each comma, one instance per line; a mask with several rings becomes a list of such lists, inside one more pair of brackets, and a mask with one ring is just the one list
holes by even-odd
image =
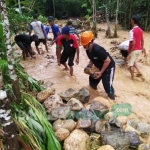
[[[73, 76], [73, 61], [75, 54], [77, 52], [76, 63], [79, 63], [79, 47], [77, 39], [73, 34], [69, 33], [69, 27], [65, 26], [62, 28], [62, 35], [58, 37], [57, 46], [58, 46], [58, 65], [63, 64], [64, 70], [68, 70], [66, 61], [68, 60], [68, 65], [70, 68], [70, 75]], [[61, 54], [63, 46], [63, 52]]]

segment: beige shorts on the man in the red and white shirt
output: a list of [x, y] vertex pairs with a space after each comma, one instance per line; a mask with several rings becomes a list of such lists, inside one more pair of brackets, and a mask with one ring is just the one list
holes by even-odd
[[139, 55], [142, 53], [142, 50], [135, 50], [133, 52], [131, 52], [131, 57], [128, 61], [128, 66], [131, 67], [134, 65], [134, 63], [136, 62], [137, 58], [139, 57]]

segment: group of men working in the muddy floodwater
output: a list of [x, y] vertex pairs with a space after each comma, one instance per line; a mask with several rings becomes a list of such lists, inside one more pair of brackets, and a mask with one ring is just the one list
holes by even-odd
[[[45, 45], [45, 49], [48, 52], [48, 47], [46, 44], [47, 34], [45, 27], [43, 24], [38, 21], [38, 16], [33, 16], [34, 21], [30, 24], [30, 32], [29, 35], [20, 34], [15, 37], [15, 41], [18, 46], [23, 51], [23, 58], [28, 56], [28, 53], [31, 57], [33, 54], [31, 52], [31, 42], [35, 41], [35, 46], [37, 49], [38, 54], [40, 51], [38, 49], [38, 45], [40, 42], [43, 42]], [[138, 15], [134, 15], [131, 19], [131, 25], [133, 29], [130, 31], [130, 39], [129, 39], [129, 46], [128, 46], [128, 53], [122, 53], [123, 56], [128, 59], [128, 65], [131, 72], [131, 77], [134, 79], [134, 68], [137, 69], [138, 73], [140, 71], [136, 64], [136, 59], [139, 53], [144, 52], [144, 40], [143, 40], [143, 31], [138, 26], [140, 17]], [[57, 63], [58, 65], [62, 64], [65, 70], [70, 71], [70, 75], [73, 75], [73, 65], [74, 65], [74, 58], [75, 54], [76, 63], [79, 63], [79, 44], [77, 38], [74, 34], [76, 33], [75, 28], [72, 27], [72, 22], [69, 21], [65, 27], [62, 28], [61, 32], [59, 27], [54, 23], [54, 17], [48, 17], [48, 23], [51, 26], [52, 33], [54, 35], [51, 45], [56, 43], [56, 56], [57, 56]], [[34, 34], [31, 35], [31, 31], [34, 30]], [[77, 34], [77, 37], [79, 35]], [[113, 79], [115, 73], [115, 62], [109, 53], [100, 45], [94, 43], [94, 36], [91, 31], [85, 31], [79, 37], [80, 44], [86, 50], [87, 57], [89, 58], [89, 66], [95, 65], [99, 68], [100, 71], [96, 72], [96, 76], [93, 78], [89, 76], [89, 85], [94, 90], [97, 89], [97, 85], [102, 80], [105, 92], [108, 94], [108, 97], [112, 100], [115, 99], [115, 92], [113, 88]], [[123, 49], [122, 49], [123, 51]], [[68, 65], [67, 65], [68, 61]], [[69, 66], [69, 67], [68, 67]]]

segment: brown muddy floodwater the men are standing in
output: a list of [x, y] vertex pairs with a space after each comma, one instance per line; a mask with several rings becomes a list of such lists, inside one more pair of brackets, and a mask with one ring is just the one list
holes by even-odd
[[[100, 25], [100, 27], [103, 29], [106, 28], [105, 24]], [[128, 39], [128, 31], [118, 30], [118, 35], [119, 38], [107, 39], [105, 38], [105, 32], [99, 32], [98, 39], [96, 39], [95, 42], [110, 51], [110, 48], [113, 47], [110, 43], [112, 40], [123, 42]], [[149, 33], [144, 33], [147, 52], [150, 49], [149, 36]], [[49, 34], [49, 37], [52, 37], [52, 34]], [[40, 47], [45, 50], [42, 44]], [[116, 50], [116, 55], [118, 55], [118, 53], [118, 50]], [[55, 58], [47, 59], [45, 58], [47, 54], [54, 55]], [[119, 55], [118, 57], [121, 56]], [[79, 65], [74, 65], [74, 76], [71, 77], [68, 71], [63, 71], [63, 66], [57, 65], [55, 45], [53, 45], [51, 47], [49, 46], [49, 53], [45, 52], [42, 55], [36, 55], [36, 59], [21, 61], [21, 64], [27, 73], [35, 79], [53, 82], [56, 93], [68, 88], [78, 90], [82, 87], [86, 87], [90, 90], [91, 100], [96, 96], [107, 98], [102, 83], [98, 85], [97, 91], [92, 90], [88, 86], [88, 75], [83, 72], [88, 61], [85, 50], [80, 46], [80, 63]], [[146, 81], [142, 81], [139, 78], [132, 81], [127, 68], [116, 66], [114, 79], [116, 103], [130, 103], [132, 105], [132, 112], [150, 124], [150, 66], [148, 65], [148, 59], [145, 60], [141, 55], [138, 65]]]

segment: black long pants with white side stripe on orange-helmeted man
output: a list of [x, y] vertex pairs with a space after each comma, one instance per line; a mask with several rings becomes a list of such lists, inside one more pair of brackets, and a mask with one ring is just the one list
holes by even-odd
[[89, 84], [92, 87], [97, 87], [99, 82], [102, 80], [105, 92], [108, 95], [111, 93], [114, 93], [114, 88], [112, 86], [113, 79], [114, 79], [114, 73], [115, 73], [115, 67], [112, 67], [110, 69], [106, 69], [105, 72], [102, 74], [102, 76], [99, 79], [93, 79], [91, 76], [89, 76]]

